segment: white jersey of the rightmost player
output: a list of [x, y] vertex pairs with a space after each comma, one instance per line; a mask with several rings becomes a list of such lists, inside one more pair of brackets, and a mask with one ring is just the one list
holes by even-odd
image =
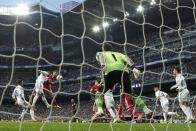
[[177, 88], [179, 91], [187, 89], [185, 78], [181, 74], [178, 74], [176, 76], [176, 84], [172, 86], [171, 89], [174, 89], [174, 88]]

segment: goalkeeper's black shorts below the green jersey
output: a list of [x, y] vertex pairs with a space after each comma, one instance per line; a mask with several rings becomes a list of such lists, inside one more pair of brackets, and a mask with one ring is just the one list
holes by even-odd
[[129, 73], [126, 71], [115, 70], [111, 71], [107, 75], [104, 76], [105, 81], [105, 90], [104, 93], [109, 89], [113, 89], [114, 85], [119, 83], [121, 84], [122, 92], [131, 94], [131, 80], [129, 77]]

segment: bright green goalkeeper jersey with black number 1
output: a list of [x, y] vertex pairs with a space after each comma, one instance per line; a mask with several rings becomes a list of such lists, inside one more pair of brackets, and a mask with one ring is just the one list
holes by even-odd
[[99, 61], [100, 54], [103, 54], [105, 60], [105, 67], [103, 69], [105, 75], [115, 70], [121, 70], [121, 71], [125, 70], [128, 72], [128, 69], [125, 64], [127, 60], [126, 55], [113, 51], [97, 52], [96, 54], [97, 61]]

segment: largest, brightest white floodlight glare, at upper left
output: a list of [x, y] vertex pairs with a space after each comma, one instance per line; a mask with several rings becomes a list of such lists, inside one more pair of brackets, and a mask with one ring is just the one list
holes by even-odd
[[29, 14], [29, 7], [27, 5], [18, 5], [13, 8], [13, 13], [16, 15], [27, 15]]

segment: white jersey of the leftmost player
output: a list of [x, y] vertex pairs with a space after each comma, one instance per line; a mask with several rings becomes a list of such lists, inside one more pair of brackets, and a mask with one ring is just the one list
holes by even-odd
[[25, 102], [24, 89], [22, 86], [17, 85], [12, 93], [12, 98], [17, 100], [19, 105]]

